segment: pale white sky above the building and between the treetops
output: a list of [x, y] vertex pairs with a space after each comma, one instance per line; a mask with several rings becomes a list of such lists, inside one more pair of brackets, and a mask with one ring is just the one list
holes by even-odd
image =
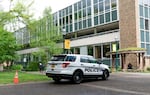
[[[63, 9], [79, 0], [34, 0], [32, 12], [34, 13], [34, 17], [38, 18], [41, 17], [43, 10], [46, 7], [51, 7], [52, 8], [52, 13]], [[9, 9], [9, 0], [0, 0], [0, 7], [4, 8], [5, 10]]]

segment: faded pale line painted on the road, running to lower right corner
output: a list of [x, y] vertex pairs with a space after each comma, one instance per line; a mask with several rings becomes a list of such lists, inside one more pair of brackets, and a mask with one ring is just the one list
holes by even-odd
[[110, 88], [110, 87], [97, 86], [97, 85], [91, 85], [91, 84], [81, 84], [81, 85], [109, 90], [109, 91], [121, 92], [121, 93], [136, 94], [136, 95], [150, 95], [150, 93], [145, 93], [145, 92], [129, 91], [129, 90], [124, 90], [124, 89]]

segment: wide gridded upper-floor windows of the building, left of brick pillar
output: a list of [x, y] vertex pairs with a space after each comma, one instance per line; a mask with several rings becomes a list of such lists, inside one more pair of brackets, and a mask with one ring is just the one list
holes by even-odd
[[118, 0], [78, 1], [55, 13], [59, 15], [58, 26], [69, 33], [118, 21], [117, 2]]

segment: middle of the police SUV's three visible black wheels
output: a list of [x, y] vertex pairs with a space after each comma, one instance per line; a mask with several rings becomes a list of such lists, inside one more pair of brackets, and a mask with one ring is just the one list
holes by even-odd
[[75, 84], [80, 84], [83, 80], [83, 73], [82, 71], [76, 71], [72, 76], [72, 81]]

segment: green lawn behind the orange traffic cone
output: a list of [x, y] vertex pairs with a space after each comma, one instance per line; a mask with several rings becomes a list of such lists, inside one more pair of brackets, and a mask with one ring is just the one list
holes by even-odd
[[[15, 71], [0, 72], [0, 84], [12, 84], [14, 76]], [[18, 79], [19, 83], [50, 80], [50, 78], [48, 78], [46, 75], [31, 74], [21, 71], [18, 72]]]

